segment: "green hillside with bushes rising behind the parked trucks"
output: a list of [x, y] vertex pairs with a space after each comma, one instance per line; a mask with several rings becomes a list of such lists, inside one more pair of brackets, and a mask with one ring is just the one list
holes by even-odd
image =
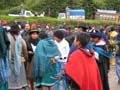
[[97, 8], [120, 11], [120, 0], [0, 0], [0, 14], [19, 12], [21, 2], [24, 3], [26, 10], [38, 13], [45, 11], [46, 16], [48, 8], [50, 8], [53, 17], [56, 17], [60, 12], [65, 12], [66, 6], [85, 9], [88, 19], [94, 17]]

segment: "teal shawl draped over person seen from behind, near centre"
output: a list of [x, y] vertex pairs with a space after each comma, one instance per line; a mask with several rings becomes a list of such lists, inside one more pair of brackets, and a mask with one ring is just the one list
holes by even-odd
[[47, 69], [52, 69], [51, 58], [55, 56], [60, 56], [60, 52], [52, 39], [43, 39], [38, 43], [33, 64], [33, 77], [35, 80], [43, 77]]

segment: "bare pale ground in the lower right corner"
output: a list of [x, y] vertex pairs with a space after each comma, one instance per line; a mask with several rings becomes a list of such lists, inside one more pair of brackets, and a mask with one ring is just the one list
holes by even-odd
[[118, 85], [118, 78], [116, 75], [116, 68], [115, 66], [111, 66], [111, 70], [109, 72], [109, 84], [110, 90], [120, 90], [120, 85]]

